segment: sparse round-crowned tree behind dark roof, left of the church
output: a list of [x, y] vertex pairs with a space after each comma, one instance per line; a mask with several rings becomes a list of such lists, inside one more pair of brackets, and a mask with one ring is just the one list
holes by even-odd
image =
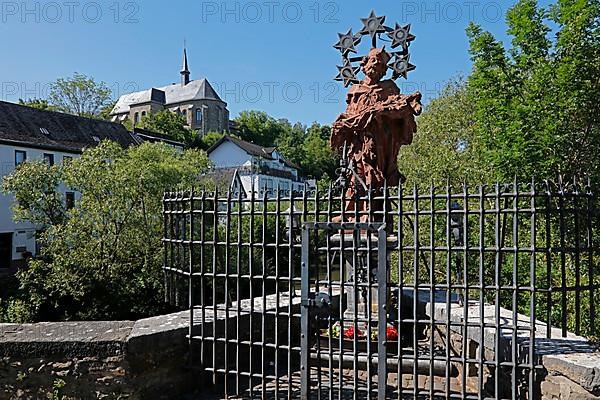
[[48, 102], [65, 113], [97, 117], [111, 103], [111, 90], [106, 83], [76, 72], [50, 86]]

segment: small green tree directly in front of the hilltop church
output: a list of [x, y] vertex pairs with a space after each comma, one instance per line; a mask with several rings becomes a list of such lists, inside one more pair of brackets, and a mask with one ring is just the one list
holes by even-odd
[[142, 118], [141, 128], [163, 133], [183, 143], [187, 148], [202, 146], [202, 138], [197, 131], [187, 127], [185, 118], [170, 110], [147, 114]]

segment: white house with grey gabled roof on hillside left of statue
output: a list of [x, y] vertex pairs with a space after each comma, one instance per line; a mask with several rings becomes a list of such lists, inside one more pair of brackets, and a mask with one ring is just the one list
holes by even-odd
[[304, 190], [299, 167], [286, 160], [275, 147], [262, 147], [225, 135], [207, 153], [214, 164], [214, 174], [235, 171], [226, 174], [235, 179], [229, 186], [235, 189], [239, 180], [246, 195], [251, 192], [262, 195], [265, 189], [268, 196], [274, 196], [277, 189], [284, 193]]

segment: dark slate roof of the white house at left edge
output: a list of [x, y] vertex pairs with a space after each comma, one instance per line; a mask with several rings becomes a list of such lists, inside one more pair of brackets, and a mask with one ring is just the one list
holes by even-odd
[[0, 101], [0, 143], [80, 153], [102, 140], [139, 143], [121, 124]]

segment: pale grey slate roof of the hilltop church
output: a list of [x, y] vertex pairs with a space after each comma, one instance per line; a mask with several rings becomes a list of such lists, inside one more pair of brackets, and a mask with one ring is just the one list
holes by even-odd
[[129, 107], [131, 105], [147, 103], [151, 99], [156, 100], [156, 91], [164, 92], [164, 102], [167, 107], [172, 104], [185, 103], [194, 100], [217, 100], [223, 102], [208, 80], [200, 79], [191, 81], [185, 86], [181, 83], [174, 83], [168, 86], [123, 95], [117, 101], [111, 114], [127, 113], [129, 112]]

